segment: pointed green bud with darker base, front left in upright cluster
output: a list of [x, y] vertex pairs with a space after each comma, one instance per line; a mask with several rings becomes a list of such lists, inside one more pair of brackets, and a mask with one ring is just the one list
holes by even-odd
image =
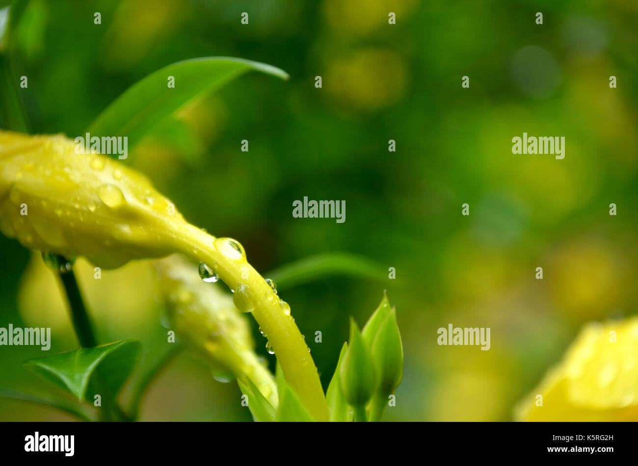
[[366, 406], [378, 385], [372, 355], [352, 318], [350, 319], [348, 352], [339, 369], [339, 381], [343, 397], [355, 407], [355, 411], [357, 408]]

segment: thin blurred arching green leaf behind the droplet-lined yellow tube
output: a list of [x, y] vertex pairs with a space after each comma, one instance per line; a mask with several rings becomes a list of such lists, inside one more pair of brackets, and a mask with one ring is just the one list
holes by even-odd
[[383, 280], [383, 267], [367, 258], [346, 253], [324, 253], [282, 265], [265, 274], [279, 291], [333, 275]]

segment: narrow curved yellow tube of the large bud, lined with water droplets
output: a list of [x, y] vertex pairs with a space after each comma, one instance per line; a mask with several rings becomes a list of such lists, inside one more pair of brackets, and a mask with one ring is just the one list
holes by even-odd
[[[267, 335], [288, 385], [317, 421], [329, 420], [328, 406], [308, 346], [285, 305], [273, 296], [272, 288], [246, 262], [245, 257], [228, 257], [219, 251], [211, 236], [184, 222], [173, 242], [175, 247], [195, 260], [210, 265], [232, 290], [240, 286], [250, 301], [253, 317]], [[195, 243], [193, 243], [195, 242]], [[237, 297], [237, 296], [235, 296]]]

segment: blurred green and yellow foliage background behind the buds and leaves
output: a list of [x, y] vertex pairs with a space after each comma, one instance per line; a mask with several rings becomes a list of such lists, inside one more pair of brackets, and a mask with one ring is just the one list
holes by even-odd
[[[396, 268], [394, 280], [282, 293], [324, 386], [348, 317], [362, 325], [387, 289], [405, 369], [385, 420], [511, 420], [584, 323], [637, 311], [637, 19], [629, 0], [33, 0], [11, 58], [28, 76], [34, 131], [71, 138], [172, 62], [225, 55], [287, 71], [289, 81], [249, 74], [189, 105], [130, 163], [189, 221], [241, 241], [262, 273], [327, 251]], [[565, 136], [565, 159], [513, 155], [523, 132]], [[346, 222], [293, 218], [304, 196], [345, 200]], [[0, 251], [0, 327], [54, 327], [50, 354], [75, 348], [39, 255], [5, 237]], [[80, 286], [102, 342], [139, 338], [145, 357], [165, 342], [144, 262]], [[448, 323], [491, 327], [491, 350], [438, 346]], [[22, 368], [41, 355], [0, 347], [0, 383], [42, 386]], [[249, 420], [240, 395], [182, 353], [142, 420]], [[60, 419], [70, 418], [0, 399], [0, 420]]]

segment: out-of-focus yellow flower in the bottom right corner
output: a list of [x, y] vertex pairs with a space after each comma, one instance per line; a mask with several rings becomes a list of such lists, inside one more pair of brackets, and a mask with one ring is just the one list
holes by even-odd
[[514, 418], [638, 421], [638, 317], [586, 326]]

